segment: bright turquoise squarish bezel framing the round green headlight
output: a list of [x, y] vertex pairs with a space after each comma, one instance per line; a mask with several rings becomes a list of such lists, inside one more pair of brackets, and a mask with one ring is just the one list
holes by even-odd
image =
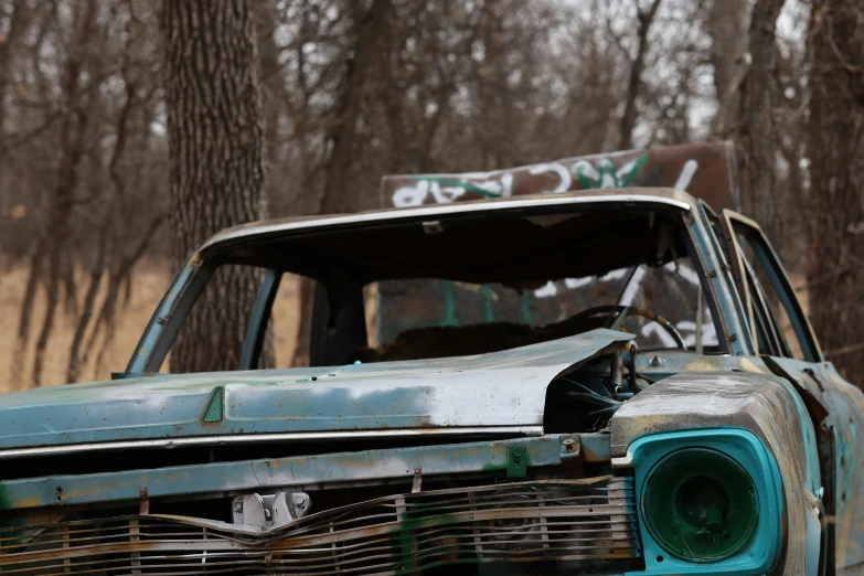
[[[753, 480], [758, 518], [750, 537], [726, 558], [711, 564], [675, 557], [651, 531], [644, 511], [646, 480], [654, 467], [671, 454], [686, 449], [710, 449], [737, 462]], [[646, 570], [638, 574], [765, 574], [778, 561], [782, 544], [782, 482], [777, 462], [754, 434], [737, 428], [687, 430], [643, 436], [628, 450], [632, 458]], [[637, 574], [637, 573], [633, 573]]]

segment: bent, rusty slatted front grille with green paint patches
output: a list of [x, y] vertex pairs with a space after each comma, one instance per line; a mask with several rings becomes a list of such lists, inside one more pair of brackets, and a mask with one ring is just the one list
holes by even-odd
[[0, 530], [0, 573], [366, 576], [513, 562], [625, 569], [639, 557], [634, 518], [632, 481], [612, 477], [398, 494], [260, 534], [124, 516]]

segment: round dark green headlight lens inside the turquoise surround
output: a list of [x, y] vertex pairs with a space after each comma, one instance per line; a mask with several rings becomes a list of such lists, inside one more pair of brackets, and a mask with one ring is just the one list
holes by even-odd
[[669, 554], [690, 562], [728, 558], [753, 535], [759, 503], [750, 476], [710, 448], [676, 450], [648, 473], [646, 527]]

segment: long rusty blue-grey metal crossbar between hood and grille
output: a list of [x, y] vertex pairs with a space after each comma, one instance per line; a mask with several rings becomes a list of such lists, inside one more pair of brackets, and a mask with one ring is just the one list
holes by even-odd
[[[573, 440], [574, 445], [565, 444]], [[568, 450], [569, 446], [578, 450]], [[292, 487], [314, 490], [321, 486], [410, 484], [414, 467], [425, 477], [458, 479], [466, 474], [501, 477], [508, 470], [508, 452], [525, 452], [525, 471], [558, 467], [580, 457], [609, 460], [607, 434], [545, 435], [536, 438], [476, 440], [459, 444], [370, 449], [311, 456], [248, 459], [199, 465], [163, 466], [84, 474], [55, 474], [0, 482], [0, 511], [30, 513], [42, 509], [138, 502], [141, 490], [150, 500], [175, 497], [205, 498], [225, 492], [267, 491]]]

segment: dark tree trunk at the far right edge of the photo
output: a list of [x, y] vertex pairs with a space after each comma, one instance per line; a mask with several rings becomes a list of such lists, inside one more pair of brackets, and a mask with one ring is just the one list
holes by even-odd
[[864, 387], [864, 7], [813, 0], [810, 316], [829, 360]]

